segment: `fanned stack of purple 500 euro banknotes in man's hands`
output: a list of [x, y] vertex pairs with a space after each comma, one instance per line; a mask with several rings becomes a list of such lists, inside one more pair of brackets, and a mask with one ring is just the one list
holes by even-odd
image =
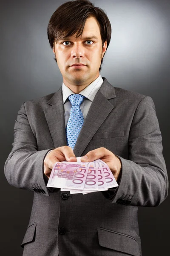
[[57, 162], [54, 164], [47, 187], [70, 191], [70, 194], [83, 195], [105, 191], [118, 186], [108, 165], [98, 159], [94, 162]]

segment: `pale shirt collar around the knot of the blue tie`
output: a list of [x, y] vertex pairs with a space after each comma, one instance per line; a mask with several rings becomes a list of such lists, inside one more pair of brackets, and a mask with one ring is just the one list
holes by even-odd
[[[85, 89], [82, 90], [79, 94], [85, 96], [87, 99], [89, 99], [92, 102], [94, 100], [94, 97], [96, 96], [96, 93], [101, 87], [102, 83], [103, 83], [103, 79], [102, 79], [102, 76], [99, 74], [99, 76], [91, 84], [85, 87]], [[63, 103], [65, 103], [66, 99], [68, 99], [68, 97], [71, 94], [74, 94], [74, 92], [70, 88], [68, 88], [62, 81]]]

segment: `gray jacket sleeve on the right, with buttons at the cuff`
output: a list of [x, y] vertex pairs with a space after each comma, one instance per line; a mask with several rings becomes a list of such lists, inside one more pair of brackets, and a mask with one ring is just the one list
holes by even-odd
[[162, 154], [162, 137], [153, 100], [146, 96], [133, 116], [129, 133], [129, 158], [120, 157], [119, 187], [111, 203], [155, 207], [168, 194], [168, 177]]

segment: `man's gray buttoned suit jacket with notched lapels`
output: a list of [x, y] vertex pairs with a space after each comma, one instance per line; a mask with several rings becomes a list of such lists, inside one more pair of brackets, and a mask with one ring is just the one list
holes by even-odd
[[12, 186], [34, 192], [23, 256], [142, 255], [138, 206], [155, 207], [168, 192], [161, 132], [150, 97], [103, 79], [74, 153], [105, 147], [118, 155], [122, 176], [115, 192], [70, 195], [46, 187], [45, 154], [66, 145], [62, 88], [18, 112], [5, 175]]

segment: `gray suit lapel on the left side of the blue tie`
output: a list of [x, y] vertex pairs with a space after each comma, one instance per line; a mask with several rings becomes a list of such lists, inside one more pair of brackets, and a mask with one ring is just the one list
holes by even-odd
[[58, 148], [63, 145], [67, 145], [65, 135], [62, 87], [53, 95], [47, 104], [49, 106], [44, 109], [44, 113], [54, 143], [54, 147]]

